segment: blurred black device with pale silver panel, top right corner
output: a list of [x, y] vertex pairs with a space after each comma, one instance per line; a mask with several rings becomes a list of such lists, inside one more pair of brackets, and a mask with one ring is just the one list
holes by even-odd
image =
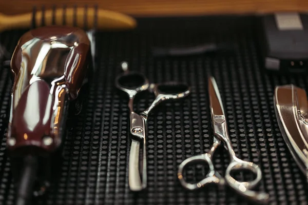
[[261, 17], [260, 44], [265, 69], [305, 73], [308, 69], [308, 15], [275, 13]]

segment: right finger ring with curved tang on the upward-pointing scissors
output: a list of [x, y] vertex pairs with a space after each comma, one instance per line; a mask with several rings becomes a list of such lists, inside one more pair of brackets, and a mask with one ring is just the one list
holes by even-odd
[[[248, 170], [256, 174], [256, 178], [252, 181], [238, 181], [230, 175], [232, 171]], [[234, 157], [226, 169], [225, 180], [227, 184], [237, 191], [242, 196], [248, 197], [259, 203], [266, 203], [268, 201], [268, 194], [264, 192], [256, 192], [250, 189], [256, 187], [262, 178], [262, 172], [258, 165], [253, 162], [243, 161]]]

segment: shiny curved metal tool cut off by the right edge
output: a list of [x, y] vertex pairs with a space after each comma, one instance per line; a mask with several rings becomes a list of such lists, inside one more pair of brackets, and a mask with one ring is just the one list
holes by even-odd
[[306, 92], [294, 85], [277, 86], [274, 104], [282, 136], [308, 181], [308, 101]]

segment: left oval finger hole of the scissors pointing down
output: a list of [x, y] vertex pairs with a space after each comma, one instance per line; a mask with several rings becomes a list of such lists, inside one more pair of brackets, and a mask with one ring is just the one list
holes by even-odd
[[126, 89], [137, 89], [146, 84], [146, 79], [138, 73], [129, 73], [118, 78], [118, 84]]

